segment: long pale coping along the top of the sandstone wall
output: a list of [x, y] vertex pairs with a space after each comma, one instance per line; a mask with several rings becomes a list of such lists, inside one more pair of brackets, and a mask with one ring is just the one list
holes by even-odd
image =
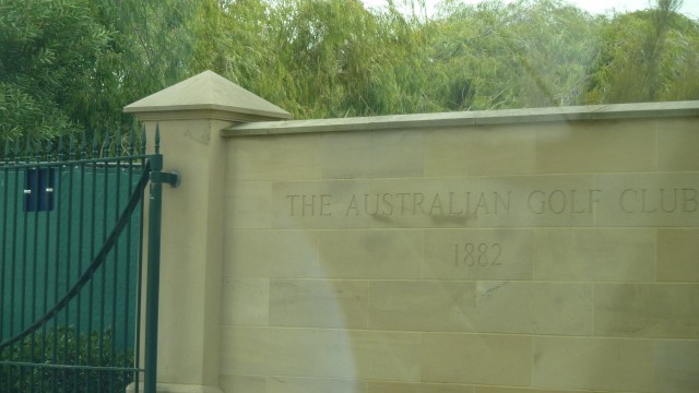
[[224, 138], [381, 131], [517, 124], [555, 121], [628, 120], [699, 116], [699, 100], [590, 105], [549, 108], [477, 110], [440, 114], [393, 115], [318, 120], [260, 121], [237, 123], [221, 131]]

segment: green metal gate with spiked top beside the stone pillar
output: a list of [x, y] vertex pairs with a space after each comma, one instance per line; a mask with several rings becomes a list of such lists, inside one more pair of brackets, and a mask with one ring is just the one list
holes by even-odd
[[161, 172], [159, 132], [154, 154], [134, 136], [5, 143], [0, 392], [155, 392], [161, 188], [176, 179]]

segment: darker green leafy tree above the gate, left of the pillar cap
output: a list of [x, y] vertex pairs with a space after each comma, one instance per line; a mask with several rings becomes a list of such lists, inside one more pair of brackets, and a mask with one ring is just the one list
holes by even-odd
[[0, 140], [104, 134], [191, 72], [194, 1], [0, 0]]

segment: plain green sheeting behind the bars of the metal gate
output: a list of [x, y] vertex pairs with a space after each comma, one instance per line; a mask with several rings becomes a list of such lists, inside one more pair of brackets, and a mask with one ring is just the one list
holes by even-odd
[[[43, 315], [84, 273], [114, 227], [119, 210], [125, 209], [140, 175], [140, 168], [115, 167], [88, 168], [84, 172], [74, 167], [0, 171], [3, 217], [0, 245], [3, 239], [5, 245], [2, 338], [13, 336]], [[46, 192], [47, 188], [51, 192]], [[132, 342], [137, 305], [127, 307], [123, 302], [126, 298], [135, 302], [135, 296], [123, 294], [135, 294], [139, 272], [137, 264], [125, 261], [139, 259], [141, 223], [133, 219], [129, 225], [127, 234], [131, 236], [119, 238], [105, 266], [95, 273], [95, 279], [104, 282], [104, 290], [93, 288], [90, 293], [90, 287], [83, 288], [81, 309], [69, 307], [69, 314], [62, 312], [58, 321], [66, 320], [82, 332], [127, 321]], [[81, 226], [83, 234], [76, 236]], [[14, 274], [9, 274], [11, 271]], [[95, 305], [103, 303], [116, 313], [85, 312], [90, 305], [95, 309]], [[127, 310], [129, 315], [125, 314]]]

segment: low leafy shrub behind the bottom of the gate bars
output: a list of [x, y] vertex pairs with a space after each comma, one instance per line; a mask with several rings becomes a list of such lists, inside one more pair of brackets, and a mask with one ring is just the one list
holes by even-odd
[[[123, 392], [133, 381], [133, 373], [104, 368], [132, 368], [133, 350], [117, 350], [112, 338], [111, 330], [90, 335], [76, 334], [74, 327], [35, 333], [0, 354], [0, 390], [8, 393]], [[27, 366], [27, 362], [35, 365]], [[51, 365], [78, 367], [67, 369]]]

